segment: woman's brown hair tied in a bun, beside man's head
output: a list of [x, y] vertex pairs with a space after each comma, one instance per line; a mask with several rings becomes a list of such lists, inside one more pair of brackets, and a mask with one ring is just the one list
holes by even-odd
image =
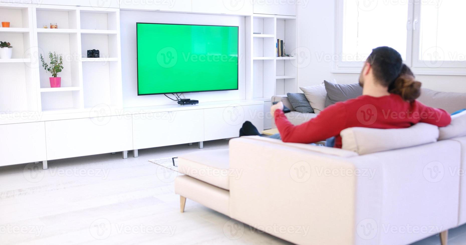
[[411, 69], [403, 64], [400, 75], [390, 84], [388, 92], [398, 94], [404, 100], [412, 102], [421, 95], [421, 85]]

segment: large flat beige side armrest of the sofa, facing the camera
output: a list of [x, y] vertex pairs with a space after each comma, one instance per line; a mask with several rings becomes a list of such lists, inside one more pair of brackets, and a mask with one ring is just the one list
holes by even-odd
[[352, 245], [356, 179], [328, 171], [354, 166], [311, 148], [231, 139], [230, 216], [295, 244]]

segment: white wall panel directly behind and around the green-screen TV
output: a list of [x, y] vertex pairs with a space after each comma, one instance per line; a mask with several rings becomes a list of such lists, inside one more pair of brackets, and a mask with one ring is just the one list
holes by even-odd
[[[245, 99], [245, 30], [244, 17], [190, 13], [121, 11], [121, 47], [123, 107], [176, 104], [164, 95], [137, 95], [136, 22], [239, 26], [239, 90], [185, 93], [200, 102]], [[186, 78], [189, 79], [189, 78]]]

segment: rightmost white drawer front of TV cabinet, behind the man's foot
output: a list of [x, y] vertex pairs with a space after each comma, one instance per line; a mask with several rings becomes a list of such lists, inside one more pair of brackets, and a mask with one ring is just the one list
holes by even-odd
[[245, 121], [251, 121], [257, 129], [264, 129], [263, 105], [229, 106], [204, 110], [204, 140], [238, 137]]

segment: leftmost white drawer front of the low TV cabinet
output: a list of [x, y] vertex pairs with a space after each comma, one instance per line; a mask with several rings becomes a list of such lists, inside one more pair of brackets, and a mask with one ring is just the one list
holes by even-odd
[[44, 122], [0, 125], [0, 166], [47, 160]]

